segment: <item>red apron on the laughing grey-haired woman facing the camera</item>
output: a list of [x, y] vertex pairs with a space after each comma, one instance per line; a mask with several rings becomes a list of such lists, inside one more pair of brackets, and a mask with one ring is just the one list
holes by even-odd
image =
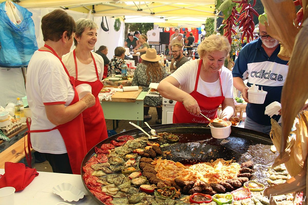
[[97, 80], [94, 82], [79, 81], [75, 50], [73, 51], [73, 55], [74, 55], [75, 70], [76, 70], [75, 85], [77, 86], [84, 83], [91, 85], [92, 94], [95, 96], [95, 105], [92, 106], [91, 108], [87, 108], [82, 112], [84, 130], [86, 134], [87, 152], [88, 152], [96, 144], [108, 138], [106, 121], [102, 106], [100, 105], [98, 98], [99, 91], [103, 88], [103, 83], [99, 80], [96, 62], [92, 53], [91, 55], [95, 66]]

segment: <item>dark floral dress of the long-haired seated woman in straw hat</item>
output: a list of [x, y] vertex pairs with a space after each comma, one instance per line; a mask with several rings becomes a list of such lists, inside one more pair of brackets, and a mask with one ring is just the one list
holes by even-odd
[[[164, 69], [164, 67], [160, 68], [162, 70], [163, 76], [162, 79], [167, 77], [167, 72]], [[150, 73], [150, 81], [148, 81], [148, 75], [147, 75], [147, 66], [143, 63], [139, 63], [136, 67], [132, 86], [142, 86], [142, 91], [148, 92], [150, 83], [159, 83], [160, 80], [154, 80], [155, 78], [152, 77]], [[162, 105], [162, 98], [161, 97], [152, 97], [152, 96], [146, 96], [144, 98], [144, 104], [152, 107], [156, 107], [159, 105]]]

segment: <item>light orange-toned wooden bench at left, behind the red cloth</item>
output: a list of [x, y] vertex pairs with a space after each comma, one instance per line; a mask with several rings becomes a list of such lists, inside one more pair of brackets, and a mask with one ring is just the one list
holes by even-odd
[[[14, 144], [12, 144], [9, 148], [0, 153], [0, 169], [4, 169], [5, 162], [20, 162], [23, 158], [25, 158], [25, 150], [24, 150], [24, 139], [26, 140], [26, 149], [27, 149], [27, 136], [21, 138]], [[32, 152], [31, 148], [31, 152]]]

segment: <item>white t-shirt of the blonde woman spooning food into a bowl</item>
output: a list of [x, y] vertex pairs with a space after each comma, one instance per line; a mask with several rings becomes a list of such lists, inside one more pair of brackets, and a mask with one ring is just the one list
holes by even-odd
[[[185, 91], [186, 93], [191, 93], [195, 89], [197, 72], [198, 62], [197, 60], [193, 60], [184, 63], [180, 68], [176, 69], [176, 71], [172, 73], [171, 76], [180, 83], [181, 90]], [[223, 95], [226, 98], [233, 98], [233, 77], [231, 71], [222, 66], [220, 77]], [[208, 83], [203, 81], [199, 76], [197, 92], [207, 97], [221, 96], [219, 78], [213, 83]]]

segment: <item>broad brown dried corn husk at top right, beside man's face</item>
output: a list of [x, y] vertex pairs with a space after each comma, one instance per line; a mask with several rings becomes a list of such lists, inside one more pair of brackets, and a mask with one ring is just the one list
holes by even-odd
[[[268, 25], [267, 33], [280, 41], [287, 53], [292, 53], [298, 29], [294, 26], [296, 10], [293, 0], [261, 0], [266, 9]], [[279, 11], [279, 12], [277, 12]], [[295, 117], [294, 117], [295, 118]]]

